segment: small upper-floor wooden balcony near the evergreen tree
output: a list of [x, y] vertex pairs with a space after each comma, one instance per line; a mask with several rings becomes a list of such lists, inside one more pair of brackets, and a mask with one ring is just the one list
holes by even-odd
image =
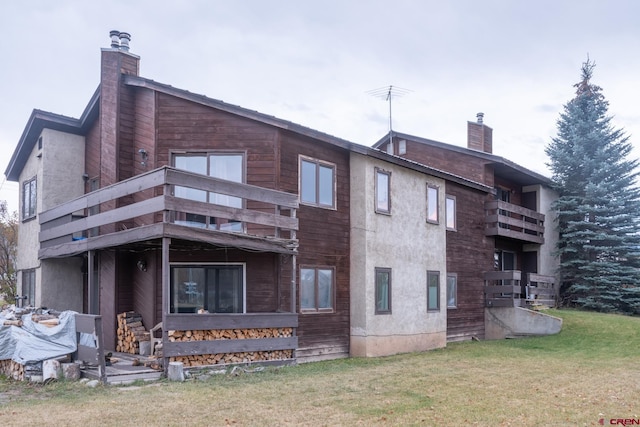
[[485, 235], [544, 243], [544, 215], [501, 200], [486, 202]]

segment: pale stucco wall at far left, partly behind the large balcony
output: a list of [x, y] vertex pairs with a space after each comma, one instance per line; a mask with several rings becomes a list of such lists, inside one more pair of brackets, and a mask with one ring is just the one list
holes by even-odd
[[[80, 260], [41, 262], [38, 259], [38, 214], [84, 193], [84, 137], [51, 129], [44, 129], [41, 137], [42, 149], [38, 148], [37, 143], [34, 144], [19, 178], [18, 289], [22, 289], [20, 271], [34, 268], [36, 306], [82, 311]], [[22, 183], [34, 176], [36, 218], [22, 222]]]

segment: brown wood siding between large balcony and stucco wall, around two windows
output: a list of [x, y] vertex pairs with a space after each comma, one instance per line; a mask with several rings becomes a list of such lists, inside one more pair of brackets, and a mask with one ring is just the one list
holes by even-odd
[[[301, 205], [296, 282], [301, 266], [335, 267], [335, 310], [328, 314], [300, 314], [300, 347], [349, 345], [349, 152], [317, 141], [281, 134], [280, 190], [298, 193], [299, 155], [336, 165], [336, 207]], [[285, 270], [286, 273], [286, 270]], [[299, 300], [296, 302], [299, 306]]]

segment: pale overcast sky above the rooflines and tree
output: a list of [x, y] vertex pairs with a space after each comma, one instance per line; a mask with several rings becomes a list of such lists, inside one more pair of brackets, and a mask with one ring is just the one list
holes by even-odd
[[[450, 144], [484, 112], [494, 154], [547, 176], [588, 56], [640, 153], [635, 0], [7, 0], [0, 30], [2, 172], [34, 108], [80, 116], [110, 30], [132, 35], [145, 78], [364, 145], [389, 131], [379, 88], [403, 89], [394, 130]], [[18, 184], [0, 200], [17, 210]]]

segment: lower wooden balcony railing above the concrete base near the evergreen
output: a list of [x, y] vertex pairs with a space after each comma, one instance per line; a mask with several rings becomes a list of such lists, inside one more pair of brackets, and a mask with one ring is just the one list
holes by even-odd
[[490, 271], [484, 274], [487, 307], [534, 307], [556, 305], [555, 278], [519, 270]]

